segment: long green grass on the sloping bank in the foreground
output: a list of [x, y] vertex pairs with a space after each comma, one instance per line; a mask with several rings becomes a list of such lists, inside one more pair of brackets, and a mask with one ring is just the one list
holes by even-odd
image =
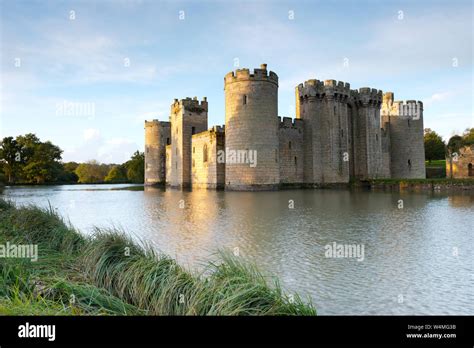
[[53, 209], [0, 200], [0, 244], [37, 244], [38, 261], [0, 259], [0, 314], [315, 315], [254, 265], [221, 253], [202, 273], [114, 230], [84, 237]]

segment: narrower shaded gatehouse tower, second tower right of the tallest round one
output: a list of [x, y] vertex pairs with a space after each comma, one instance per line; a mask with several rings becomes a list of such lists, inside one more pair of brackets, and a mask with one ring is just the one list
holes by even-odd
[[382, 91], [360, 88], [351, 91], [351, 99], [351, 174], [362, 180], [383, 177]]

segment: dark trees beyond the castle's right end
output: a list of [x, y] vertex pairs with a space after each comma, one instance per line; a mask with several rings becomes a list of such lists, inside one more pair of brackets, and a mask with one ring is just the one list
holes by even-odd
[[463, 146], [474, 145], [474, 128], [467, 128], [462, 135], [452, 136], [446, 144], [441, 136], [430, 128], [425, 129], [425, 159], [444, 160], [446, 155], [458, 152]]

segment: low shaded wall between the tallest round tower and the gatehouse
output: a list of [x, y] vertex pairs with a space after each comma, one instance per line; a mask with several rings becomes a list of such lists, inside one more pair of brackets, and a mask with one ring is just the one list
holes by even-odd
[[280, 182], [301, 184], [304, 168], [304, 122], [300, 119], [292, 121], [290, 117], [284, 117], [279, 123]]

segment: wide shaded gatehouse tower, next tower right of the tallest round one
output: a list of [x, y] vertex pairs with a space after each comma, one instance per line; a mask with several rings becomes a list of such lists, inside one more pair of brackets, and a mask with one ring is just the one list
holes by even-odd
[[349, 88], [334, 80], [308, 80], [296, 88], [304, 120], [304, 182], [349, 182]]

